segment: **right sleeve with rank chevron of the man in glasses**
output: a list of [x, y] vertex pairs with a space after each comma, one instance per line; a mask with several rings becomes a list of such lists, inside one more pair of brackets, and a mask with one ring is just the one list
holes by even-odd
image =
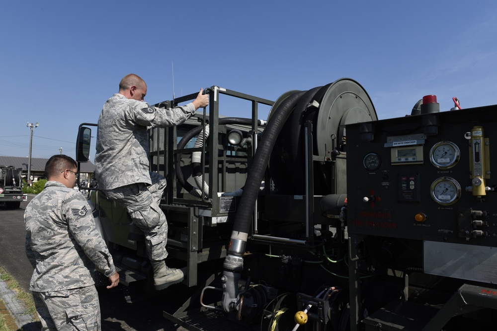
[[84, 254], [106, 277], [113, 275], [116, 268], [112, 256], [96, 229], [90, 206], [83, 195], [76, 190], [69, 193], [62, 208], [69, 231], [83, 249]]

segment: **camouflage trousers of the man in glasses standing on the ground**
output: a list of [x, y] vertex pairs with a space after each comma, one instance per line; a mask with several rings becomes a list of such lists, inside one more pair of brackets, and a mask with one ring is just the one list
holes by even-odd
[[42, 331], [101, 330], [100, 303], [94, 285], [33, 292]]

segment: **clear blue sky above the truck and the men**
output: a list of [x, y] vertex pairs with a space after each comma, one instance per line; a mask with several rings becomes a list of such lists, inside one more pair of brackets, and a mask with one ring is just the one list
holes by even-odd
[[[497, 104], [497, 1], [2, 1], [0, 155], [75, 156], [119, 80], [151, 104], [212, 85], [276, 100], [349, 77], [380, 119], [423, 95]], [[236, 116], [236, 113], [226, 115]], [[246, 114], [243, 114], [246, 116]], [[267, 113], [259, 116], [267, 118]]]

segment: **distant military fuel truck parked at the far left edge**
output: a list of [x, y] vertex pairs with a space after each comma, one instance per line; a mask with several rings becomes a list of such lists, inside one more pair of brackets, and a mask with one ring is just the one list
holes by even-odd
[[18, 209], [27, 195], [22, 193], [22, 168], [0, 165], [0, 204], [6, 208]]

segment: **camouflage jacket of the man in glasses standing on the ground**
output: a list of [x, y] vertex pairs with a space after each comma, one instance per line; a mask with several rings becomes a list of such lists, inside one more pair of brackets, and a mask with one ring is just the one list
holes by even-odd
[[116, 272], [90, 206], [79, 191], [48, 181], [26, 206], [24, 221], [26, 255], [35, 268], [31, 291], [93, 285], [93, 266], [107, 277]]

